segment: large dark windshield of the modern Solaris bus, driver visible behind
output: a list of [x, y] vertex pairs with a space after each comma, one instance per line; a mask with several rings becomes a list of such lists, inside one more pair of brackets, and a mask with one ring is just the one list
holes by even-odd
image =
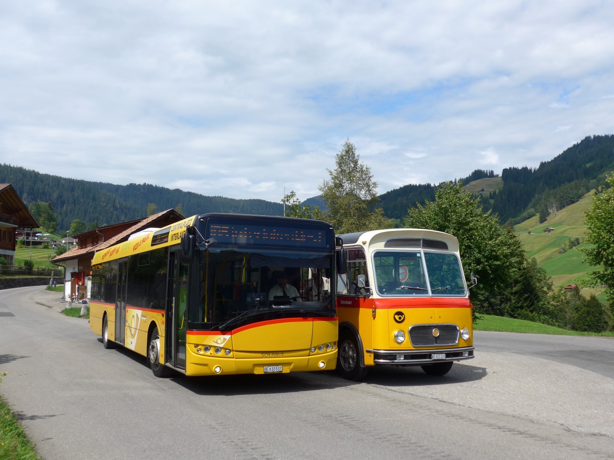
[[271, 312], [334, 314], [332, 267], [327, 251], [217, 244], [201, 253], [200, 302], [191, 321], [230, 327], [236, 318]]

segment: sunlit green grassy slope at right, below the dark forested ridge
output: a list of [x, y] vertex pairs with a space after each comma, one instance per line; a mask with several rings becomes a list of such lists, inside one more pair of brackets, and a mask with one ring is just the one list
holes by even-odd
[[[603, 289], [589, 288], [587, 274], [593, 272], [596, 267], [589, 266], [578, 250], [584, 247], [584, 243], [569, 249], [570, 240], [580, 238], [582, 241], [586, 236], [585, 212], [592, 202], [593, 193], [590, 192], [577, 203], [550, 215], [544, 223], [540, 224], [536, 215], [516, 225], [514, 230], [523, 243], [527, 256], [535, 258], [537, 265], [546, 270], [548, 276], [552, 278], [554, 287], [570, 284], [586, 286], [582, 290], [583, 294], [586, 296], [596, 294], [599, 300], [604, 302]], [[548, 227], [554, 231], [545, 233], [543, 230]], [[563, 251], [561, 247], [567, 250]]]

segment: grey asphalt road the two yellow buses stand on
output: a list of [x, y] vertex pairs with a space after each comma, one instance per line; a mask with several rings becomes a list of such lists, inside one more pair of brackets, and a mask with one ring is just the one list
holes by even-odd
[[153, 377], [58, 294], [0, 291], [0, 393], [45, 459], [614, 458], [614, 340], [476, 332], [443, 378]]

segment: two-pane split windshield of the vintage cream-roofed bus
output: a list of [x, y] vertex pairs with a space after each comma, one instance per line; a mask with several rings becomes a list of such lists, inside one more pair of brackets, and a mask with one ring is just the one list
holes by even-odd
[[381, 296], [465, 296], [461, 263], [454, 253], [377, 251], [375, 288]]

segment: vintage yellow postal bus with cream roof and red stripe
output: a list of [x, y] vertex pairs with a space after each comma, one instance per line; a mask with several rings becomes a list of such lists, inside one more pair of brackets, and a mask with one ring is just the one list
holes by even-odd
[[360, 380], [373, 366], [445, 375], [453, 361], [473, 358], [472, 305], [456, 237], [421, 229], [339, 237], [347, 264], [336, 301], [343, 377]]

